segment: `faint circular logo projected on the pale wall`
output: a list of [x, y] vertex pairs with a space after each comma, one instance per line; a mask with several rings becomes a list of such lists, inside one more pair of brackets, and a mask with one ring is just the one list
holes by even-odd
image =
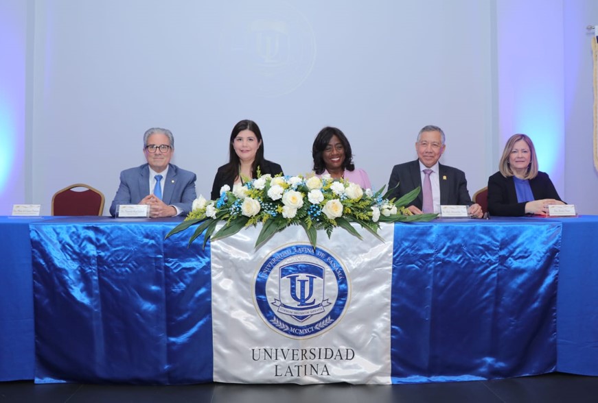
[[285, 3], [240, 3], [222, 27], [220, 56], [239, 88], [278, 97], [297, 89], [310, 75], [316, 40], [307, 19]]

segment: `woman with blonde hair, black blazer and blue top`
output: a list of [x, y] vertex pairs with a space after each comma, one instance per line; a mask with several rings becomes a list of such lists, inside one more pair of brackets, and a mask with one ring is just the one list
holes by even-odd
[[538, 171], [531, 138], [509, 138], [499, 171], [488, 178], [488, 212], [496, 216], [547, 215], [550, 204], [564, 204], [547, 173]]

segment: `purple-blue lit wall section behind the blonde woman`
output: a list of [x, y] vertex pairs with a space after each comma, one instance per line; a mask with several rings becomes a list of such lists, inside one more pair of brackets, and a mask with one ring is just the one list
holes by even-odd
[[[564, 189], [564, 33], [561, 2], [496, 2], [501, 152], [516, 133], [531, 137], [540, 171]], [[530, 16], [534, 18], [531, 19]]]

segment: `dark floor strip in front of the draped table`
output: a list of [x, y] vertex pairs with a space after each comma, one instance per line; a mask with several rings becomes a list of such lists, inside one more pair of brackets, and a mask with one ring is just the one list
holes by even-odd
[[5, 402], [213, 402], [213, 403], [386, 403], [386, 402], [598, 402], [598, 376], [562, 373], [476, 382], [392, 386], [318, 384], [195, 384], [130, 386], [0, 382]]

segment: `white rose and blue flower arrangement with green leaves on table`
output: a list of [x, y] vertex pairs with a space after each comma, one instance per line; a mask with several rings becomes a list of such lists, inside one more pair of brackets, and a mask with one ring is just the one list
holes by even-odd
[[[419, 188], [401, 197], [398, 201], [382, 195], [384, 187], [376, 193], [363, 189], [358, 184], [330, 176], [258, 175], [233, 189], [225, 185], [220, 197], [207, 200], [203, 196], [195, 199], [192, 212], [183, 223], [170, 231], [166, 237], [199, 224], [189, 239], [189, 245], [205, 231], [203, 246], [208, 239], [215, 241], [239, 232], [249, 225], [262, 223], [262, 231], [255, 247], [260, 247], [276, 232], [289, 225], [301, 225], [308, 234], [310, 243], [316, 247], [317, 231], [325, 230], [330, 237], [332, 231], [341, 227], [361, 239], [359, 232], [351, 225], [358, 223], [362, 228], [378, 235], [381, 222], [430, 221], [436, 214], [411, 215], [406, 209], [417, 197]], [[219, 222], [225, 225], [214, 233]]]

